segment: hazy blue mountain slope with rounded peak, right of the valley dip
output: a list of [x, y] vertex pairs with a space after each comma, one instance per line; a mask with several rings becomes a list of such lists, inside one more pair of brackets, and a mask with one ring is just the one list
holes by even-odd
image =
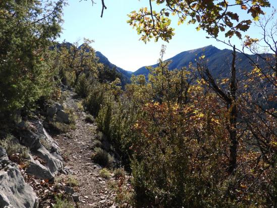
[[[209, 69], [214, 75], [219, 73], [223, 76], [226, 76], [230, 71], [230, 61], [232, 60], [232, 50], [223, 49], [220, 50], [212, 45], [206, 47], [197, 48], [193, 50], [184, 51], [166, 61], [172, 61], [169, 65], [169, 69], [181, 69], [182, 67], [187, 67], [189, 63], [196, 64], [195, 59], [198, 59], [200, 56], [205, 55], [205, 58], [208, 60], [207, 64]], [[254, 60], [257, 59], [255, 55], [249, 55]], [[237, 68], [242, 70], [250, 69], [249, 60], [242, 54], [237, 53]], [[151, 67], [157, 67], [157, 64], [152, 65]], [[148, 75], [148, 70], [146, 67], [141, 67], [135, 71], [134, 75], [143, 74]]]

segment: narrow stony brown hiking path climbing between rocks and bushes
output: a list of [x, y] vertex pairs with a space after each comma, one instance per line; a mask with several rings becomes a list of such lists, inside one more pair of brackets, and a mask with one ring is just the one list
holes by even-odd
[[70, 91], [65, 104], [75, 110], [76, 129], [54, 137], [61, 148], [65, 167], [77, 179], [79, 207], [116, 207], [113, 202], [115, 193], [107, 188], [107, 179], [99, 176], [101, 167], [94, 164], [90, 157], [93, 153], [92, 138], [96, 125], [85, 121], [86, 113], [78, 109], [76, 93]]

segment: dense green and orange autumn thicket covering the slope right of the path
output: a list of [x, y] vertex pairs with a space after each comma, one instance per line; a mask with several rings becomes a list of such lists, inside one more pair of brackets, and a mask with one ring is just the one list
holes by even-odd
[[274, 204], [275, 95], [269, 87], [270, 97], [255, 96], [265, 88], [257, 86], [263, 79], [253, 69], [236, 83], [234, 99], [232, 82], [213, 80], [204, 60], [198, 62], [170, 71], [161, 61], [149, 69], [148, 81], [133, 76], [125, 91], [117, 81], [79, 83], [88, 86], [85, 106], [132, 172], [134, 204]]

